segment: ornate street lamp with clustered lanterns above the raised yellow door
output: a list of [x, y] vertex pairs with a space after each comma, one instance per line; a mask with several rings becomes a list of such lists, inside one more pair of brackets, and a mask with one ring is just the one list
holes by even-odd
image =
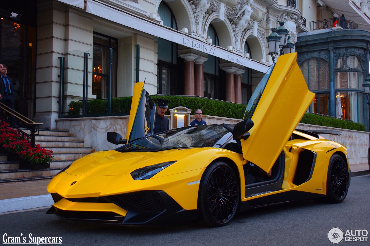
[[280, 27], [272, 28], [272, 33], [266, 37], [272, 62], [275, 62], [275, 57], [279, 54], [279, 49], [280, 55], [289, 54], [294, 51], [295, 45], [290, 41], [288, 33], [289, 30], [284, 27], [284, 21], [280, 21]]

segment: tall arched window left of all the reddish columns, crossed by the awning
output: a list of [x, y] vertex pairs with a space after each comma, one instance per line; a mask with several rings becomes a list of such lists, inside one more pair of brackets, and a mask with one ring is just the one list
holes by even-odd
[[[163, 25], [177, 30], [174, 13], [162, 1], [158, 7], [158, 14]], [[175, 78], [177, 73], [177, 44], [158, 38], [158, 65], [157, 65], [157, 94], [175, 94]]]

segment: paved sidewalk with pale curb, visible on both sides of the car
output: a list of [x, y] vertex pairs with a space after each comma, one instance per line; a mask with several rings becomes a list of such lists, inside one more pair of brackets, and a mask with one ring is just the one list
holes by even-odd
[[[369, 165], [350, 165], [352, 177], [369, 174]], [[53, 205], [46, 187], [50, 180], [0, 184], [0, 213]]]

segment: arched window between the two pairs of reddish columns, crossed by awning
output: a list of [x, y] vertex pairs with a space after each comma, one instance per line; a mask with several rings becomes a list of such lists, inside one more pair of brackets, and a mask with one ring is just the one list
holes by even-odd
[[[212, 44], [219, 46], [219, 41], [215, 28], [210, 24], [207, 30], [207, 37], [212, 38]], [[204, 97], [220, 99], [219, 88], [219, 63], [220, 58], [208, 55], [208, 60], [204, 62], [203, 66], [203, 88]]]

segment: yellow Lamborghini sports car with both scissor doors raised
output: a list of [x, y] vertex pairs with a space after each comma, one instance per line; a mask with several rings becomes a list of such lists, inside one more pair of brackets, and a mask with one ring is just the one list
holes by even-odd
[[[237, 211], [297, 199], [342, 202], [350, 184], [347, 149], [295, 130], [314, 98], [296, 63], [282, 55], [235, 125], [188, 126], [153, 134], [155, 104], [135, 83], [125, 139], [59, 172], [47, 213], [70, 221], [141, 225], [200, 220], [223, 226]], [[340, 134], [340, 132], [324, 132]]]

